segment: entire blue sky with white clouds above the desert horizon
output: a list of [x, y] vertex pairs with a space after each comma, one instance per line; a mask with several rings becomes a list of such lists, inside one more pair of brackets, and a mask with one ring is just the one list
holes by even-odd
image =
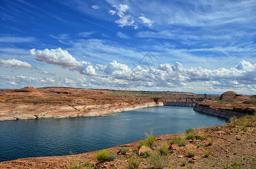
[[255, 0], [0, 0], [0, 88], [256, 95], [255, 9]]

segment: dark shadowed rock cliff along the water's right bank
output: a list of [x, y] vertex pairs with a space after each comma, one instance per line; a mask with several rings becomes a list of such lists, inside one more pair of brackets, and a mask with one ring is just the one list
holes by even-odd
[[246, 115], [254, 115], [256, 113], [255, 109], [250, 109], [250, 108], [233, 108], [232, 110], [230, 109], [214, 109], [211, 108], [209, 105], [205, 104], [196, 104], [193, 108], [197, 112], [202, 112], [202, 113], [207, 113], [211, 115], [215, 115], [218, 117], [223, 117], [226, 119], [230, 119], [231, 117], [244, 117]]

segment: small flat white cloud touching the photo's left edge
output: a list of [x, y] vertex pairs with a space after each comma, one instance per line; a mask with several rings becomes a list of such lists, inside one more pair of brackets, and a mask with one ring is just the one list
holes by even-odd
[[10, 59], [10, 60], [0, 59], [0, 66], [8, 67], [8, 68], [14, 67], [14, 68], [33, 69], [31, 64], [25, 61], [20, 61], [16, 59]]

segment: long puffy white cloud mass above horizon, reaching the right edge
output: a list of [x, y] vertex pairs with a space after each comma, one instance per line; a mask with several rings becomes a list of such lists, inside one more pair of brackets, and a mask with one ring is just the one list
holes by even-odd
[[[194, 83], [202, 83], [207, 88], [241, 88], [246, 85], [256, 87], [256, 64], [241, 61], [236, 68], [219, 68], [215, 70], [183, 68], [176, 62], [174, 65], [159, 64], [157, 67], [141, 69], [136, 66], [130, 69], [128, 65], [112, 61], [107, 65], [97, 65], [97, 70], [110, 77], [122, 80], [123, 87], [184, 87], [190, 88]], [[120, 81], [115, 81], [120, 82]], [[98, 82], [99, 83], [99, 82]], [[114, 84], [113, 84], [114, 85]], [[198, 84], [196, 84], [198, 85]], [[196, 87], [196, 86], [194, 86]], [[194, 88], [192, 87], [192, 88]]]

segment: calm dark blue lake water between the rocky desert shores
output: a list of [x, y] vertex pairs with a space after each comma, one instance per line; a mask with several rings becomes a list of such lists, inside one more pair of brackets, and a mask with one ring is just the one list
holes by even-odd
[[209, 127], [224, 118], [198, 113], [193, 108], [158, 106], [106, 117], [28, 119], [0, 122], [0, 161], [68, 155], [110, 148], [153, 135], [184, 133], [189, 127]]

